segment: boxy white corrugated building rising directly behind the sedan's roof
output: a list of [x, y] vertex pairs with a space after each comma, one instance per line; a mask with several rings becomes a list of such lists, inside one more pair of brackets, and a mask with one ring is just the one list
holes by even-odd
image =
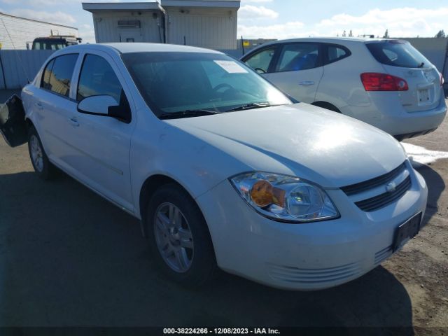
[[239, 0], [83, 3], [101, 42], [155, 42], [237, 48]]

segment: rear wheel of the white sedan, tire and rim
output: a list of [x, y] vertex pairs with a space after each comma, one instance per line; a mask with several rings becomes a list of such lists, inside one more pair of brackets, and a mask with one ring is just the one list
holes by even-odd
[[38, 176], [45, 181], [52, 179], [55, 176], [56, 167], [48, 160], [48, 156], [43, 150], [41, 138], [32, 126], [28, 130], [28, 151], [31, 164]]

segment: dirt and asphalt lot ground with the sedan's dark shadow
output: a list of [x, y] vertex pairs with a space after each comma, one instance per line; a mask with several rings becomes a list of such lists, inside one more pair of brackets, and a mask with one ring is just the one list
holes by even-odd
[[[405, 142], [448, 152], [448, 120]], [[1, 140], [0, 325], [405, 326], [405, 335], [439, 335], [448, 325], [447, 164], [418, 165], [428, 224], [360, 279], [290, 292], [222, 273], [186, 290], [155, 269], [135, 218], [65, 174], [41, 181], [27, 146]]]

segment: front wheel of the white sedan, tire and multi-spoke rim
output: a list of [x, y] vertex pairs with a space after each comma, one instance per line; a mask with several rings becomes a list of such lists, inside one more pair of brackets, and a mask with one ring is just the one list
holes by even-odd
[[217, 268], [214, 248], [193, 198], [169, 183], [155, 191], [146, 210], [148, 241], [162, 272], [192, 288], [210, 281]]

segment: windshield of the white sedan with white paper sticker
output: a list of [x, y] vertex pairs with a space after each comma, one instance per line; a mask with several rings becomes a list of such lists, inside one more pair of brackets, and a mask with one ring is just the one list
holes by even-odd
[[184, 118], [291, 104], [244, 64], [226, 55], [198, 52], [133, 52], [123, 62], [158, 117]]

